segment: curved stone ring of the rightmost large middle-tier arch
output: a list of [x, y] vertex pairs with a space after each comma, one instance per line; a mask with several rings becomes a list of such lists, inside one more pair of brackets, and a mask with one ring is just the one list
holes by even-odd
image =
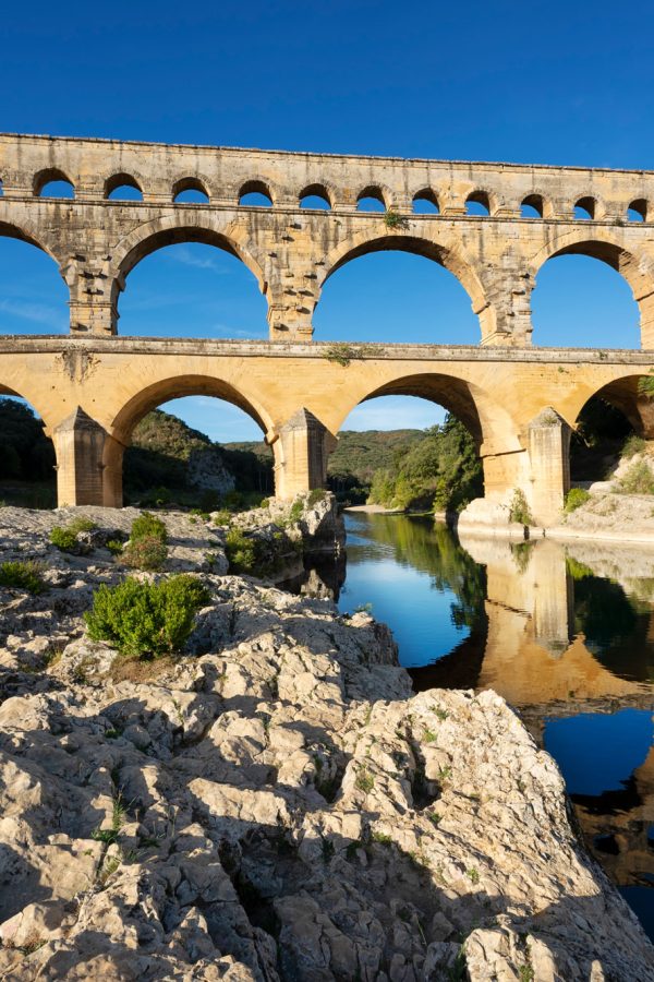
[[604, 229], [579, 228], [567, 235], [555, 235], [529, 264], [531, 287], [547, 260], [557, 255], [588, 255], [615, 270], [631, 287], [640, 310], [641, 348], [654, 348], [654, 261], [643, 252], [627, 249], [616, 236]]

